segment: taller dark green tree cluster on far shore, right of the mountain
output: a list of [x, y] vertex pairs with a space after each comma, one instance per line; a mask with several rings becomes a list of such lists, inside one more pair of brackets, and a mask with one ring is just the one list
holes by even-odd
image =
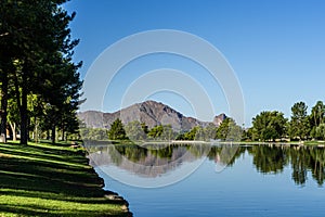
[[324, 140], [325, 105], [316, 102], [308, 114], [308, 105], [297, 102], [291, 107], [290, 119], [278, 111], [264, 111], [252, 118], [252, 127], [245, 130], [244, 138], [252, 141]]

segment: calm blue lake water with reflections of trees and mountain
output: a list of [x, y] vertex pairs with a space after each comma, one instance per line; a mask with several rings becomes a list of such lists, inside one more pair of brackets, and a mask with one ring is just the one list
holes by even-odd
[[102, 145], [90, 152], [106, 188], [134, 216], [325, 215], [324, 149]]

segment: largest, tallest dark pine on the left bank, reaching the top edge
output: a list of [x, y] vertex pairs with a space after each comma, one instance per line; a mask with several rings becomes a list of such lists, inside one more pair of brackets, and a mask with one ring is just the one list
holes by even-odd
[[[47, 91], [43, 91], [46, 87], [57, 90], [56, 93], [68, 94], [68, 88], [64, 88], [64, 91], [63, 87], [70, 86], [68, 81], [72, 79], [67, 79], [65, 85], [56, 86], [55, 81], [60, 78], [53, 76], [53, 72], [72, 75], [72, 68], [64, 67], [62, 71], [61, 66], [79, 66], [72, 63], [73, 49], [78, 44], [78, 40], [72, 40], [68, 28], [75, 13], [67, 14], [61, 7], [65, 2], [66, 0], [39, 0], [37, 3], [11, 0], [0, 2], [0, 58], [5, 60], [5, 64], [0, 65], [1, 106], [4, 111], [1, 113], [1, 131], [6, 122], [8, 85], [12, 84], [20, 111], [22, 144], [26, 144], [28, 140], [28, 95], [37, 94], [46, 101], [49, 99], [46, 95]], [[61, 100], [67, 99], [61, 98], [60, 94], [55, 97]]]

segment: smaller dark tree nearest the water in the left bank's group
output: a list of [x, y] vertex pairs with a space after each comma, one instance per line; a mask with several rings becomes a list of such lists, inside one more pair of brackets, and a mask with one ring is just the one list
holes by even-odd
[[48, 103], [44, 117], [47, 123], [50, 124], [48, 128], [52, 131], [53, 143], [57, 128], [62, 130], [63, 140], [65, 132], [76, 132], [78, 128], [79, 91], [82, 86], [79, 73], [77, 73], [80, 65], [74, 65], [64, 60], [58, 61], [60, 59], [57, 59], [57, 64], [52, 69], [52, 77], [49, 77], [53, 80], [52, 85], [42, 87], [43, 99]]

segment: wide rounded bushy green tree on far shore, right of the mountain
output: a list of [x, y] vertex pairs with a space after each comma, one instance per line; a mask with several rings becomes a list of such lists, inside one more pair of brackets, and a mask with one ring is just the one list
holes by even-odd
[[252, 118], [252, 133], [255, 140], [281, 139], [286, 132], [287, 118], [277, 111], [261, 112]]

